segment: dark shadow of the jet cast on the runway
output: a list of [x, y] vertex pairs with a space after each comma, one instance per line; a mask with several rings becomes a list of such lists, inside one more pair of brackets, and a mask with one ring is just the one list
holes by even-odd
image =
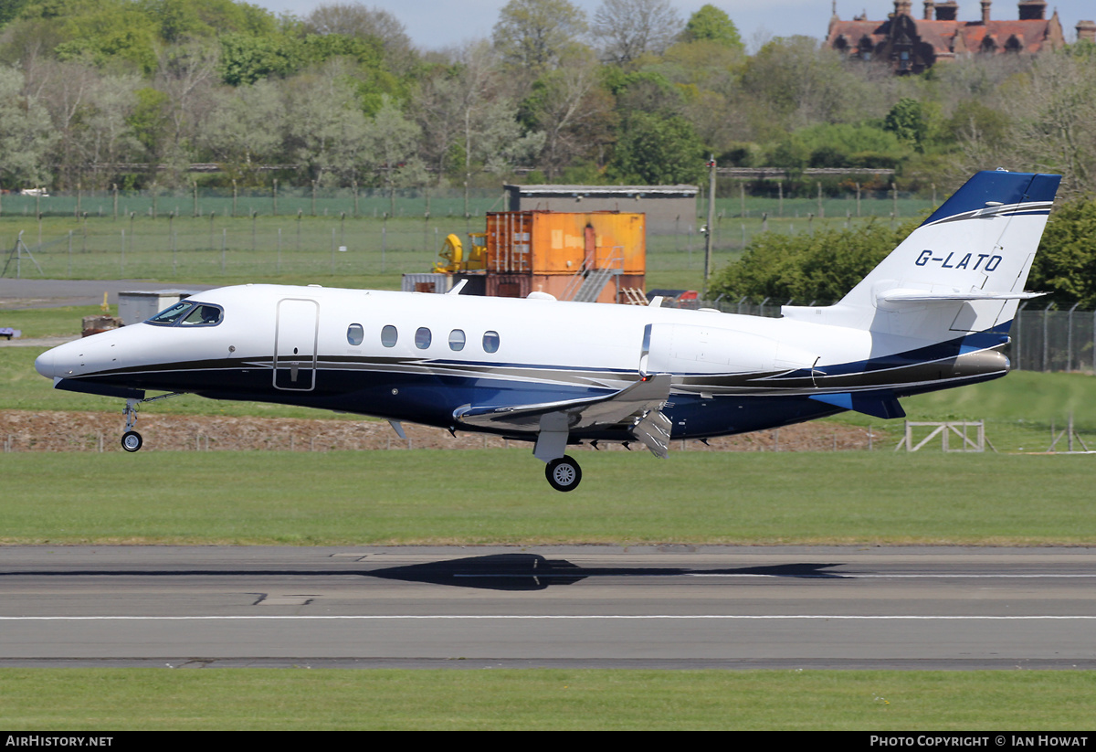
[[739, 576], [797, 579], [845, 579], [824, 571], [837, 563], [788, 563], [772, 567], [731, 569], [580, 567], [566, 559], [546, 559], [538, 554], [493, 554], [448, 561], [430, 561], [367, 572], [369, 577], [408, 582], [430, 582], [459, 588], [488, 590], [545, 590], [549, 585], [569, 585], [590, 577], [682, 577]]

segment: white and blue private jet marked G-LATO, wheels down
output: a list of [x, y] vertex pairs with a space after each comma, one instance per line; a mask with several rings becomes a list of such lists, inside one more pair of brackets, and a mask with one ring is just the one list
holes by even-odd
[[[566, 451], [772, 429], [1008, 372], [1001, 352], [1061, 178], [980, 172], [840, 303], [783, 318], [713, 310], [242, 285], [44, 353], [59, 389], [139, 402], [191, 392], [326, 408], [534, 443], [548, 482]], [[146, 398], [147, 390], [167, 395]]]

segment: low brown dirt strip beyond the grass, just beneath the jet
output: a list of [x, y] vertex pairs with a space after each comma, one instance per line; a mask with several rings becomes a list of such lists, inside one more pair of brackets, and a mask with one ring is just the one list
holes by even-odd
[[[3, 452], [122, 452], [125, 422], [119, 414], [0, 410]], [[403, 423], [400, 438], [387, 421], [305, 420], [295, 418], [230, 418], [221, 415], [172, 415], [144, 412], [137, 424], [145, 438], [142, 452], [251, 451], [330, 452], [334, 449], [482, 449], [529, 446], [487, 434], [457, 432]], [[835, 423], [801, 423], [776, 431], [738, 436], [673, 442], [672, 452], [827, 452], [867, 449], [886, 435]], [[574, 451], [590, 447], [574, 447]], [[619, 444], [602, 444], [603, 451], [620, 452]], [[641, 444], [632, 448], [643, 449]]]

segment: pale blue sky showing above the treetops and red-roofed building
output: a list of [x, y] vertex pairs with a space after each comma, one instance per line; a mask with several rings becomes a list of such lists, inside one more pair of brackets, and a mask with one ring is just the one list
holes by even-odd
[[[275, 13], [289, 12], [298, 16], [307, 15], [323, 0], [248, 0], [252, 4], [267, 8]], [[353, 2], [354, 0], [329, 0], [330, 2]], [[592, 16], [601, 0], [571, 0]], [[705, 4], [705, 0], [671, 0], [683, 19]], [[489, 37], [491, 29], [499, 20], [499, 10], [507, 0], [363, 0], [363, 4], [381, 8], [392, 13], [407, 27], [408, 36], [420, 50], [442, 49], [463, 43]], [[757, 42], [773, 36], [825, 36], [826, 25], [833, 12], [833, 0], [708, 0], [727, 11], [739, 27], [742, 41], [753, 52]], [[1058, 9], [1062, 30], [1068, 42], [1076, 34], [1074, 26], [1081, 19], [1096, 21], [1096, 5], [1093, 0], [1049, 0], [1047, 14]], [[867, 12], [869, 19], [884, 19], [893, 11], [893, 0], [837, 0], [837, 15], [852, 19]], [[921, 14], [922, 3], [914, 0], [915, 15]], [[1018, 16], [1016, 0], [996, 0], [991, 10], [992, 18], [1015, 20]], [[959, 19], [977, 21], [981, 18], [978, 0], [959, 0]]]

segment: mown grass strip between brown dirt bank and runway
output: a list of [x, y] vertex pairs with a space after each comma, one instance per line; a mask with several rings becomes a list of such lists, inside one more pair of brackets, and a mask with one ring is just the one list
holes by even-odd
[[1093, 545], [1087, 456], [525, 449], [0, 455], [3, 544]]

